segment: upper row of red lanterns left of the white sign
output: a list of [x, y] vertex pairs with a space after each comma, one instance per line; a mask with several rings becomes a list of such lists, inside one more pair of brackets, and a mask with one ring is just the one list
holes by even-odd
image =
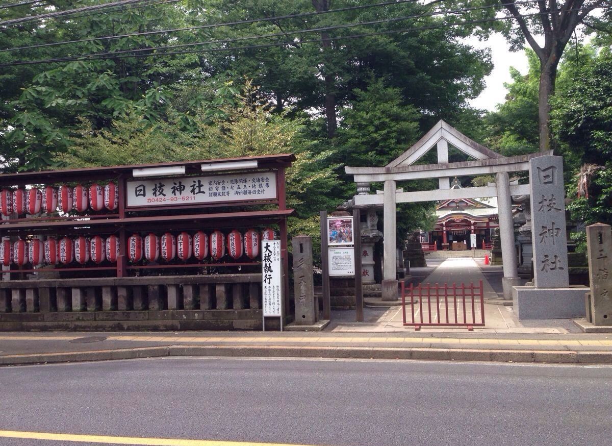
[[17, 215], [38, 215], [40, 212], [47, 214], [56, 210], [69, 213], [73, 210], [85, 212], [102, 211], [107, 209], [114, 211], [119, 206], [119, 193], [116, 184], [108, 183], [106, 186], [92, 184], [89, 187], [46, 186], [42, 190], [32, 189], [2, 189], [0, 191], [0, 212], [4, 216], [12, 213]]

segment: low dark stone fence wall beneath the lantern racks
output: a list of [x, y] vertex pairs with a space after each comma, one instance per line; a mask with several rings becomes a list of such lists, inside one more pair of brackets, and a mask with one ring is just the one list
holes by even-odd
[[260, 330], [261, 318], [261, 274], [0, 282], [0, 331]]

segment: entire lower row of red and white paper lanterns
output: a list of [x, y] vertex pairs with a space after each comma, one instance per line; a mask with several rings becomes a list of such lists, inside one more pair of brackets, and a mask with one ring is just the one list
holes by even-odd
[[[195, 257], [204, 260], [209, 253], [213, 260], [220, 260], [225, 255], [225, 240], [227, 239], [227, 253], [233, 259], [239, 259], [246, 254], [250, 259], [259, 255], [259, 240], [274, 240], [274, 231], [264, 229], [261, 236], [254, 229], [249, 229], [244, 234], [233, 230], [225, 237], [221, 231], [215, 230], [211, 235], [198, 231], [193, 236], [187, 232], [181, 232], [176, 237], [171, 233], [162, 236], [149, 234], [141, 237], [138, 234], [130, 236], [127, 243], [127, 255], [130, 261], [140, 262], [146, 259], [156, 262], [160, 257], [166, 262], [175, 258], [188, 260]], [[67, 265], [76, 261], [84, 264], [91, 259], [94, 263], [102, 263], [108, 259], [116, 262], [119, 256], [119, 237], [110, 235], [103, 239], [99, 235], [92, 238], [84, 236], [75, 240], [64, 237], [61, 240], [48, 238], [45, 241], [34, 239], [25, 241], [19, 239], [14, 243], [9, 240], [0, 242], [0, 264], [9, 266], [11, 263], [23, 266], [32, 263], [34, 266], [47, 263]]]

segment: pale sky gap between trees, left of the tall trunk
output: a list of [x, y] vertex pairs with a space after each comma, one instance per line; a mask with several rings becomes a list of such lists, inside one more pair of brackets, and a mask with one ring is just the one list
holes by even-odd
[[476, 37], [466, 39], [466, 42], [476, 48], [491, 48], [493, 71], [485, 77], [487, 87], [479, 97], [471, 100], [470, 105], [484, 110], [495, 110], [495, 106], [504, 102], [506, 88], [504, 82], [512, 81], [510, 67], [515, 67], [522, 74], [527, 73], [528, 61], [524, 51], [510, 52], [506, 39], [501, 34], [491, 34], [487, 40], [480, 42]]

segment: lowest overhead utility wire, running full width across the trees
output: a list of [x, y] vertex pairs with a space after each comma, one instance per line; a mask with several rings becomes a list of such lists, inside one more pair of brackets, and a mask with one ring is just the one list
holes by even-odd
[[[605, 6], [599, 6], [596, 9], [602, 9]], [[565, 12], [572, 11], [581, 11], [587, 10], [588, 8], [575, 8], [575, 9], [567, 9]], [[522, 14], [520, 17], [536, 17], [540, 15], [548, 15], [549, 12], [535, 12], [531, 14]], [[349, 40], [349, 39], [357, 39], [361, 37], [371, 37], [371, 36], [383, 36], [387, 34], [396, 34], [400, 32], [410, 32], [410, 31], [425, 31], [428, 29], [440, 29], [440, 28], [450, 28], [452, 26], [464, 26], [464, 25], [474, 25], [477, 23], [487, 23], [490, 21], [500, 21], [500, 20], [513, 20], [515, 17], [513, 15], [506, 15], [504, 17], [495, 17], [495, 18], [483, 18], [479, 20], [469, 20], [463, 21], [460, 23], [444, 23], [441, 25], [430, 25], [430, 26], [421, 26], [417, 28], [401, 28], [401, 29], [393, 29], [389, 31], [379, 31], [379, 32], [369, 32], [364, 34], [356, 34], [351, 36], [339, 36], [339, 37], [330, 37], [330, 40]], [[253, 39], [257, 39], [258, 37], [254, 36]], [[321, 39], [313, 39], [313, 40], [303, 40], [302, 42], [274, 42], [274, 43], [265, 43], [261, 45], [245, 45], [242, 47], [224, 47], [224, 48], [209, 48], [207, 50], [185, 50], [185, 51], [167, 51], [163, 53], [149, 53], [149, 54], [124, 54], [117, 55], [116, 53], [99, 53], [92, 55], [81, 55], [81, 56], [73, 56], [68, 58], [54, 58], [54, 59], [44, 59], [39, 61], [16, 61], [10, 62], [7, 64], [0, 64], [0, 68], [9, 67], [9, 66], [17, 66], [17, 65], [32, 65], [32, 64], [42, 64], [42, 63], [57, 63], [57, 62], [72, 62], [72, 61], [89, 61], [89, 60], [100, 60], [100, 59], [123, 59], [123, 58], [135, 58], [135, 57], [158, 57], [158, 56], [172, 56], [172, 55], [182, 55], [182, 54], [193, 54], [193, 53], [216, 53], [219, 51], [238, 51], [238, 50], [251, 50], [258, 48], [270, 48], [270, 47], [282, 47], [282, 46], [291, 46], [291, 45], [302, 45], [304, 43], [320, 43]], [[218, 40], [215, 43], [225, 43], [223, 40]], [[165, 47], [159, 48], [147, 48], [148, 50], [163, 50]]]

